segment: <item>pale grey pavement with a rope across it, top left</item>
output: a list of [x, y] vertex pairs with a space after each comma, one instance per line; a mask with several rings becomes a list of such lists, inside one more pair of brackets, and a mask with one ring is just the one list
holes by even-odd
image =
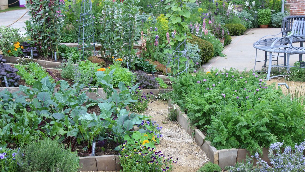
[[[7, 12], [0, 13], [0, 25], [7, 26], [9, 24], [14, 23], [17, 19], [19, 19], [24, 13], [26, 13], [27, 9], [18, 9]], [[25, 21], [29, 20], [30, 16], [26, 13], [19, 21], [12, 24], [9, 27], [18, 28], [20, 33], [24, 35], [25, 29]]]

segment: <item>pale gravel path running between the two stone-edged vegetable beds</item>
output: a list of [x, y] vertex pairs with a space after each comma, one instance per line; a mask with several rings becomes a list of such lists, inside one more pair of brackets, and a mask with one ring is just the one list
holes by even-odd
[[148, 110], [144, 112], [163, 127], [161, 130], [163, 137], [160, 139], [160, 144], [156, 145], [156, 149], [173, 159], [178, 158], [173, 172], [196, 172], [203, 164], [209, 162], [209, 158], [178, 122], [166, 120], [167, 112], [167, 102], [161, 100], [149, 104]]

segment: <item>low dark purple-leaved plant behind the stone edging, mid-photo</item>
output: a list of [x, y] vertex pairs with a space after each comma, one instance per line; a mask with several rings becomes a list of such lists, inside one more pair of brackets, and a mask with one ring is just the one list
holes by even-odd
[[136, 71], [136, 78], [137, 78], [137, 83], [140, 84], [142, 88], [148, 88], [148, 89], [158, 89], [159, 84], [158, 81], [154, 77], [151, 77], [147, 75], [145, 72], [138, 70]]

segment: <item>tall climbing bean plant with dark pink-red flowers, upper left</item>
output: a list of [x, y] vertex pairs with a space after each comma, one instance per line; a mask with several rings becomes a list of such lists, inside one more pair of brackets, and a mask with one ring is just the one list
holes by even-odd
[[64, 0], [29, 0], [26, 4], [31, 16], [26, 21], [26, 35], [31, 37], [29, 41], [44, 57], [58, 52], [60, 41], [60, 21], [65, 7]]

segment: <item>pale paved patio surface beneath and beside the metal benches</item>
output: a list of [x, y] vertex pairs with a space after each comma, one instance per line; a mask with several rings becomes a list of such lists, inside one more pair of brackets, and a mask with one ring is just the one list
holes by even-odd
[[[208, 63], [200, 67], [203, 71], [209, 71], [212, 68], [230, 69], [235, 68], [239, 71], [251, 71], [255, 64], [256, 49], [253, 43], [266, 35], [275, 35], [281, 32], [281, 28], [255, 28], [249, 29], [242, 36], [232, 36], [232, 42], [222, 51], [226, 57], [214, 57]], [[280, 35], [281, 36], [281, 35]], [[297, 46], [298, 44], [296, 44]], [[257, 50], [257, 59], [264, 60], [265, 52]], [[303, 57], [303, 59], [305, 59]], [[290, 55], [290, 64], [299, 60], [299, 55]], [[278, 64], [283, 64], [283, 58], [278, 59]], [[274, 62], [275, 64], [275, 62]], [[264, 62], [257, 62], [256, 70], [260, 70]]]

